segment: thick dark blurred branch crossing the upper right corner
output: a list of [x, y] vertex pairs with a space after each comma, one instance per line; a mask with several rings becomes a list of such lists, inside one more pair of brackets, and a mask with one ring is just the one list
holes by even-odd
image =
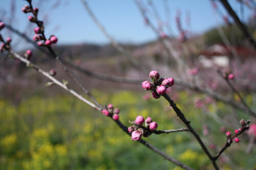
[[222, 5], [226, 8], [226, 10], [228, 11], [229, 15], [234, 19], [234, 21], [236, 21], [238, 27], [240, 28], [240, 30], [243, 32], [244, 36], [249, 40], [249, 42], [251, 43], [251, 45], [254, 47], [254, 49], [256, 50], [256, 42], [253, 39], [253, 37], [251, 36], [250, 32], [248, 31], [248, 29], [246, 28], [246, 26], [243, 24], [243, 22], [239, 19], [239, 17], [237, 16], [236, 12], [234, 12], [234, 10], [232, 9], [232, 7], [229, 5], [229, 3], [227, 2], [227, 0], [219, 0]]

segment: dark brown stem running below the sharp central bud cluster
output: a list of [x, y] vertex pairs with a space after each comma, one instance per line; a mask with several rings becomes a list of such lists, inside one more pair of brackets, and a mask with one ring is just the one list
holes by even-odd
[[163, 95], [164, 98], [169, 102], [170, 106], [174, 109], [175, 113], [177, 114], [177, 116], [182, 120], [182, 122], [187, 126], [187, 128], [189, 129], [189, 131], [196, 137], [197, 141], [199, 142], [199, 144], [201, 145], [203, 151], [205, 152], [205, 154], [208, 156], [208, 158], [210, 159], [212, 165], [214, 165], [215, 169], [219, 169], [218, 165], [216, 164], [216, 162], [214, 161], [213, 157], [211, 156], [210, 152], [208, 151], [208, 149], [206, 148], [205, 144], [203, 143], [202, 139], [200, 138], [200, 136], [198, 135], [198, 133], [190, 126], [190, 122], [186, 119], [186, 117], [184, 116], [184, 114], [181, 112], [181, 110], [176, 106], [176, 104], [174, 103], [174, 101], [172, 99], [170, 99], [170, 97], [168, 96], [168, 94], [164, 94]]

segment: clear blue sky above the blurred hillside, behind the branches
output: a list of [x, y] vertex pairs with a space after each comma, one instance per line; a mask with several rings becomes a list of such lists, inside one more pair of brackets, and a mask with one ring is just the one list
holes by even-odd
[[[22, 31], [32, 32], [35, 25], [29, 25], [27, 19], [29, 14], [24, 14], [21, 11], [21, 8], [27, 4], [26, 1], [13, 0], [13, 2], [16, 3], [13, 27]], [[49, 22], [45, 25], [46, 34], [48, 36], [55, 34], [60, 44], [109, 42], [89, 17], [80, 0], [62, 0], [57, 8], [53, 7], [57, 0], [33, 0], [34, 7], [37, 7], [41, 2], [44, 3], [39, 6], [39, 18], [43, 18], [46, 13], [48, 14]], [[116, 40], [120, 42], [143, 43], [156, 38], [152, 30], [145, 25], [132, 0], [88, 0], [87, 2], [99, 21]], [[143, 2], [147, 4], [146, 0]], [[160, 12], [162, 19], [165, 20], [163, 0], [153, 0], [153, 2]], [[181, 11], [182, 26], [185, 29], [186, 13], [190, 13], [190, 29], [194, 34], [202, 33], [217, 25], [209, 0], [167, 0], [167, 2], [170, 9], [169, 23], [172, 27], [173, 35], [178, 34], [175, 24], [175, 15], [178, 9]], [[240, 16], [239, 3], [236, 0], [230, 0], [229, 3]], [[10, 4], [11, 0], [0, 1], [2, 20], [6, 21], [10, 16]], [[227, 14], [221, 4], [218, 3], [218, 5], [222, 13]], [[150, 6], [147, 7], [151, 9]], [[3, 15], [3, 11], [6, 11], [6, 14]], [[251, 14], [252, 12], [245, 8], [246, 18]], [[154, 19], [153, 14], [150, 14], [150, 17]], [[223, 20], [219, 18], [218, 23], [223, 24]], [[30, 36], [32, 38], [33, 33]]]

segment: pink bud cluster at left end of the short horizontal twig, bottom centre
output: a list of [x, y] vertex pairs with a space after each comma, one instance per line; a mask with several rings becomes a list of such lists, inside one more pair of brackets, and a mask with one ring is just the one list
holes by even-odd
[[[144, 119], [143, 116], [137, 116], [135, 121], [130, 121], [133, 125], [128, 128], [129, 133], [132, 133], [132, 140], [140, 140], [142, 135], [144, 137], [150, 136], [157, 130], [157, 123], [152, 121], [151, 117]], [[145, 127], [143, 126], [145, 123]]]

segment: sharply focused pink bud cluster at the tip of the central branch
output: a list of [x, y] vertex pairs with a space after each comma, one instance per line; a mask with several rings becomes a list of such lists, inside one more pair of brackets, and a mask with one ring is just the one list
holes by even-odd
[[150, 78], [152, 80], [151, 82], [142, 82], [142, 88], [145, 90], [151, 90], [152, 96], [155, 99], [159, 99], [161, 95], [164, 95], [166, 93], [168, 87], [174, 85], [173, 78], [160, 78], [160, 74], [157, 71], [151, 71]]

